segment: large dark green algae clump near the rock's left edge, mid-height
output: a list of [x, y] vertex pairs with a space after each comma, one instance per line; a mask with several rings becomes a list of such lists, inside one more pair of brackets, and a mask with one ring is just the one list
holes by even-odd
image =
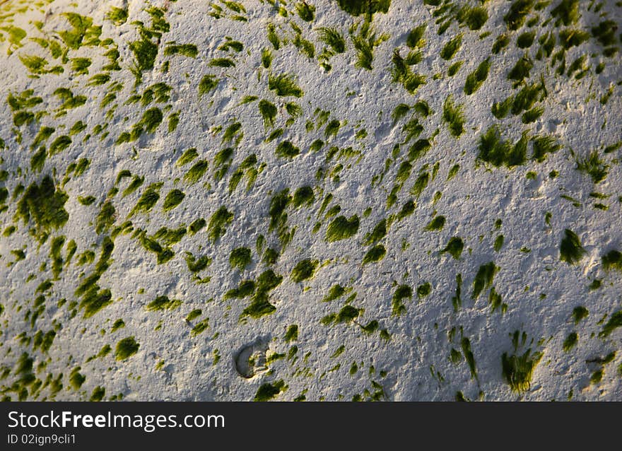
[[40, 185], [30, 184], [18, 201], [16, 219], [28, 223], [30, 218], [37, 226], [37, 238], [43, 242], [52, 228], [57, 229], [69, 220], [64, 205], [69, 196], [57, 189], [52, 177], [46, 175]]

